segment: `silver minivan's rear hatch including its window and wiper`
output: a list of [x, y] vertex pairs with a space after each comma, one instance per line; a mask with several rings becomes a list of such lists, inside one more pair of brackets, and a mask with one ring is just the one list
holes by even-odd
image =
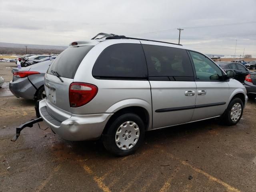
[[[78, 66], [94, 45], [70, 46], [52, 62], [44, 78], [48, 113], [61, 120], [55, 106], [63, 112], [71, 112], [69, 86], [73, 82]], [[59, 77], [58, 77], [59, 75]]]

